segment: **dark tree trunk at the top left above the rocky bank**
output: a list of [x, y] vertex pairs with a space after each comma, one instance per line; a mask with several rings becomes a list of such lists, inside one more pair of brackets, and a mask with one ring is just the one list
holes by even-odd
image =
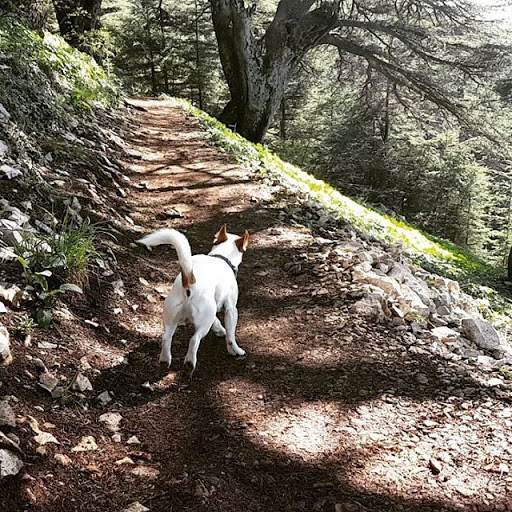
[[53, 0], [59, 31], [75, 48], [80, 36], [98, 27], [102, 0]]

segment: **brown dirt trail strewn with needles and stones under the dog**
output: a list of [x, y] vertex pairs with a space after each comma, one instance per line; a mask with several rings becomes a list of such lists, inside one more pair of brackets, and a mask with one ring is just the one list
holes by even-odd
[[[146, 111], [126, 141], [132, 186], [119, 208], [134, 224], [118, 237], [117, 288], [91, 281], [57, 332], [14, 340], [0, 380], [28, 418], [17, 434], [31, 448], [23, 478], [2, 483], [0, 510], [512, 510], [509, 398], [350, 315], [350, 283], [324, 270], [329, 240], [292, 220], [195, 119], [168, 102], [133, 103]], [[170, 226], [205, 253], [224, 223], [252, 237], [238, 278], [247, 355], [228, 356], [209, 334], [188, 382], [189, 328], [175, 335], [171, 368], [158, 364], [175, 252], [133, 241]], [[54, 401], [34, 385], [35, 357], [58, 373], [80, 368], [93, 390]], [[34, 419], [59, 444], [38, 447]]]

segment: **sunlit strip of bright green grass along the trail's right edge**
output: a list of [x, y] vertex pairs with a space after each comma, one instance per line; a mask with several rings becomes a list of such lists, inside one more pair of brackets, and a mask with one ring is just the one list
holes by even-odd
[[410, 224], [382, 214], [350, 199], [329, 184], [299, 167], [281, 160], [262, 144], [248, 142], [222, 123], [190, 103], [175, 99], [176, 105], [197, 117], [209, 137], [238, 162], [277, 179], [293, 191], [308, 194], [331, 215], [342, 218], [363, 233], [385, 243], [401, 243], [418, 263], [453, 278], [496, 275], [499, 270], [455, 244], [422, 232]]

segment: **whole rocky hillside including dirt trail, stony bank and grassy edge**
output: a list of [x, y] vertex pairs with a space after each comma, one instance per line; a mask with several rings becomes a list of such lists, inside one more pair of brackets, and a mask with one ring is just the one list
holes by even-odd
[[[99, 68], [75, 103], [64, 77], [91, 61], [32, 33], [22, 60], [0, 34], [3, 509], [510, 508], [509, 303], [474, 281], [488, 268], [181, 101], [114, 108]], [[251, 232], [247, 356], [209, 334], [188, 381], [189, 328], [158, 365], [175, 253], [134, 241], [169, 226], [208, 252], [223, 223]]]

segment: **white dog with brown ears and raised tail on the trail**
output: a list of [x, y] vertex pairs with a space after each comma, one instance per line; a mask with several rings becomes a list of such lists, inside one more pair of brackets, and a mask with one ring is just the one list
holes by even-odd
[[[163, 321], [164, 334], [160, 362], [171, 365], [172, 337], [178, 325], [187, 321], [194, 325], [195, 332], [190, 339], [184, 369], [192, 375], [197, 362], [199, 343], [210, 329], [217, 336], [226, 336], [229, 354], [243, 356], [235, 339], [238, 320], [238, 284], [236, 275], [243, 253], [249, 244], [249, 233], [242, 236], [226, 232], [226, 225], [215, 235], [214, 246], [208, 255], [192, 256], [187, 238], [175, 229], [159, 229], [137, 240], [149, 250], [161, 244], [171, 244], [178, 253], [181, 274], [175, 279], [165, 299]], [[217, 318], [217, 312], [224, 310], [226, 328]]]

